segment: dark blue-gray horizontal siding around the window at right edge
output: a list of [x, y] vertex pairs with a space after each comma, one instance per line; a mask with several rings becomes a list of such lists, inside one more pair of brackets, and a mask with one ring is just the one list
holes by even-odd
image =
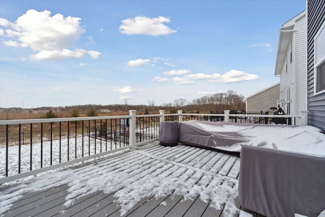
[[314, 95], [314, 38], [325, 21], [325, 1], [307, 1], [307, 109], [308, 125], [325, 132], [325, 94]]

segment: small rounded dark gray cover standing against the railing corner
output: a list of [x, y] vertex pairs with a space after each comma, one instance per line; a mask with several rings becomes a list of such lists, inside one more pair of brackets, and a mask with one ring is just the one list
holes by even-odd
[[161, 121], [159, 126], [160, 145], [175, 146], [178, 145], [178, 141], [178, 122]]

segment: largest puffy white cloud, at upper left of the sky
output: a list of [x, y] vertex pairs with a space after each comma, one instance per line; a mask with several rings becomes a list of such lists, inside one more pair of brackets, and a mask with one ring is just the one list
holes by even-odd
[[[32, 59], [66, 59], [80, 58], [89, 54], [97, 58], [101, 53], [98, 51], [85, 51], [83, 49], [70, 50], [74, 43], [85, 33], [80, 26], [81, 18], [63, 17], [44, 10], [28, 10], [14, 23], [2, 19], [1, 25], [8, 27], [6, 37], [14, 40], [21, 47], [30, 47], [38, 53], [31, 55]], [[88, 39], [91, 41], [92, 38]]]

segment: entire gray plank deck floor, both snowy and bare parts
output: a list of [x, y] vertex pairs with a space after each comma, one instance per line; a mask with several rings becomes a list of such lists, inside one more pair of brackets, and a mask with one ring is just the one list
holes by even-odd
[[2, 187], [0, 215], [247, 216], [239, 165], [238, 153], [145, 145]]

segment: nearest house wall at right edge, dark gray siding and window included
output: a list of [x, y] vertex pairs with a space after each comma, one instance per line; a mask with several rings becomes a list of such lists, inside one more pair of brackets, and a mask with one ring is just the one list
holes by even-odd
[[325, 1], [307, 0], [308, 125], [325, 132]]

